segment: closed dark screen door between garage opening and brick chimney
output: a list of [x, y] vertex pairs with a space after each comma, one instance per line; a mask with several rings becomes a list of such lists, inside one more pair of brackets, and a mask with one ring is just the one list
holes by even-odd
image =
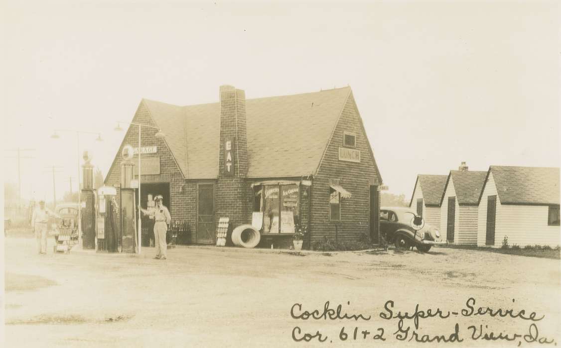
[[199, 184], [197, 194], [197, 239], [214, 244], [214, 184]]

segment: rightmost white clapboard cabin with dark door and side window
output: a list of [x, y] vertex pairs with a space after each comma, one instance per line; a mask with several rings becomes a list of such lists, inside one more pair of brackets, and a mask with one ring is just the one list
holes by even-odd
[[478, 246], [556, 247], [559, 234], [559, 168], [489, 167], [479, 199]]

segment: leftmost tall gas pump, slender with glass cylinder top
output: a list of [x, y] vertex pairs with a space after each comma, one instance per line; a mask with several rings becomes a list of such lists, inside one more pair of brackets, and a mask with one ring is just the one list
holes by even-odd
[[94, 166], [88, 151], [84, 151], [82, 165], [83, 188], [81, 190], [82, 248], [95, 249], [95, 190]]

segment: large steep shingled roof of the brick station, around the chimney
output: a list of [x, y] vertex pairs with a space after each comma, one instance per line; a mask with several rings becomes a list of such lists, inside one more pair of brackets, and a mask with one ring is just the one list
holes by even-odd
[[[246, 100], [247, 177], [312, 174], [351, 88]], [[220, 103], [176, 106], [143, 99], [183, 176], [218, 176]]]

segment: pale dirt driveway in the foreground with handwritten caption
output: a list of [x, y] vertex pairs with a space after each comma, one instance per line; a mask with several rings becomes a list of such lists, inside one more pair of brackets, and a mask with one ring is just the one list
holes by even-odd
[[[434, 346], [438, 337], [515, 347], [561, 340], [558, 260], [438, 248], [302, 256], [187, 247], [159, 261], [153, 248], [143, 251], [41, 256], [33, 239], [7, 238], [5, 346]], [[479, 307], [484, 314], [476, 314]], [[487, 307], [503, 312], [491, 316]], [[427, 309], [440, 314], [423, 318]], [[304, 319], [314, 310], [319, 319]], [[415, 318], [383, 318], [399, 311], [417, 312], [417, 326]], [[521, 318], [531, 312], [534, 320]], [[490, 332], [503, 339], [484, 340]]]

